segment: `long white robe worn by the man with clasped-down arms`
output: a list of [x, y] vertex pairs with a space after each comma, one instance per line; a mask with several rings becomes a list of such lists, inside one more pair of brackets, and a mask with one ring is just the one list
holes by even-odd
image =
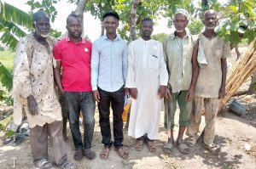
[[128, 74], [125, 86], [137, 87], [131, 101], [128, 135], [140, 138], [147, 133], [157, 139], [160, 123], [160, 85], [167, 86], [168, 73], [161, 42], [139, 38], [128, 46]]

